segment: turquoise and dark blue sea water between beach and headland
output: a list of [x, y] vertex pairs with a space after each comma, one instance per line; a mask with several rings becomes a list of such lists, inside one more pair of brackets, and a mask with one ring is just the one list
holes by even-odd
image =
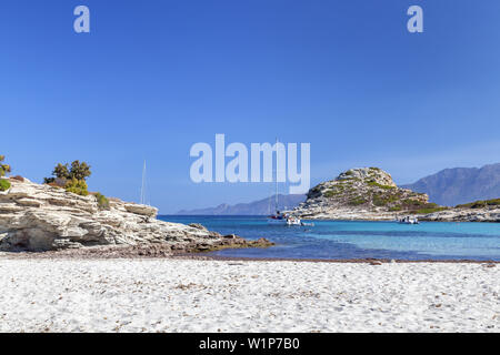
[[262, 216], [160, 216], [201, 223], [221, 234], [267, 237], [270, 248], [224, 250], [218, 255], [279, 258], [399, 258], [500, 261], [499, 223], [313, 221], [314, 226], [269, 225]]

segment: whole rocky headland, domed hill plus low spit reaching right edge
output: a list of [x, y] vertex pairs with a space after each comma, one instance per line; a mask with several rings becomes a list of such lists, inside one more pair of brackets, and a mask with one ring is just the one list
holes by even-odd
[[379, 168], [351, 169], [318, 184], [290, 213], [306, 220], [390, 221], [413, 215], [422, 221], [500, 222], [500, 205], [440, 206], [424, 193], [398, 187]]

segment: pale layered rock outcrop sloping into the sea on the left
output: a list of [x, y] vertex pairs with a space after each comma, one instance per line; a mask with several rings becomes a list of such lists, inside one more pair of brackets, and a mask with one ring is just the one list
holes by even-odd
[[210, 251], [221, 247], [269, 246], [238, 236], [224, 237], [201, 225], [156, 219], [158, 210], [110, 199], [101, 210], [93, 195], [10, 179], [0, 192], [0, 250], [50, 251], [94, 245], [161, 244], [162, 251]]

